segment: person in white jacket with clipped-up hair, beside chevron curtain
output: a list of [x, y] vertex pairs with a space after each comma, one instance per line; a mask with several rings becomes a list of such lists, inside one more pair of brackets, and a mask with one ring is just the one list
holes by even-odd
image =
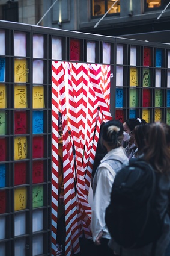
[[108, 153], [100, 161], [93, 180], [94, 201], [91, 217], [91, 232], [96, 245], [96, 255], [113, 255], [108, 246], [111, 236], [105, 224], [105, 210], [110, 202], [110, 194], [115, 174], [121, 169], [123, 163], [129, 159], [122, 147], [123, 124], [118, 120], [111, 120], [103, 125], [102, 143]]

